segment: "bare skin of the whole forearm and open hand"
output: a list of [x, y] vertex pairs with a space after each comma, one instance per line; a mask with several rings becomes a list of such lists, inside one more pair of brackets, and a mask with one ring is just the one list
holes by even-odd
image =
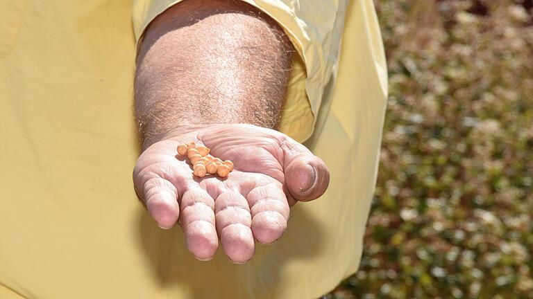
[[[179, 223], [187, 248], [219, 246], [243, 263], [255, 242], [279, 239], [290, 206], [325, 192], [328, 168], [276, 131], [294, 49], [283, 30], [240, 1], [187, 0], [146, 30], [135, 74], [143, 152], [135, 192], [162, 228]], [[180, 143], [231, 160], [228, 177], [193, 176]]]

